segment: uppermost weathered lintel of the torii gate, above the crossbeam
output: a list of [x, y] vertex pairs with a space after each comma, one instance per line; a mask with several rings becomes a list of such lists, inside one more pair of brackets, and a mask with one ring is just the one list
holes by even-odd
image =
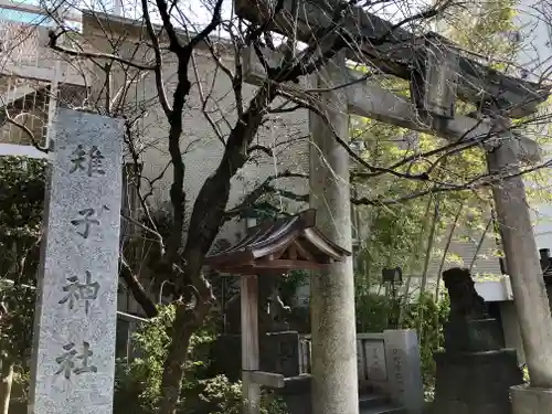
[[[283, 0], [283, 10], [268, 29], [285, 35], [296, 34], [297, 39], [308, 43], [314, 33], [320, 33], [332, 28], [335, 9], [341, 0], [301, 1], [297, 13], [297, 30], [293, 4], [295, 0]], [[236, 14], [256, 23], [269, 21], [273, 2], [267, 0], [235, 0]], [[392, 23], [368, 13], [360, 7], [347, 6], [340, 25], [344, 32], [359, 36], [357, 44], [360, 54], [378, 66], [384, 73], [390, 73], [404, 79], [411, 78], [412, 67], [416, 65], [417, 56], [425, 49], [425, 42], [440, 43], [447, 47], [448, 41], [435, 33], [426, 33], [415, 38], [406, 30], [397, 29], [391, 32]], [[382, 41], [383, 39], [383, 41]], [[350, 50], [348, 57], [361, 62], [359, 50]], [[550, 89], [531, 82], [507, 76], [491, 70], [471, 59], [458, 56], [458, 96], [467, 102], [479, 104], [489, 98], [497, 99], [502, 109], [510, 109], [511, 117], [523, 117], [537, 110], [549, 96]]]

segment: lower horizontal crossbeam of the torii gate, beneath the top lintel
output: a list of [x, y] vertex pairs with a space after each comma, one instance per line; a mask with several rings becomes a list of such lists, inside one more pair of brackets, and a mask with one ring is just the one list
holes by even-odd
[[[263, 50], [263, 53], [270, 65], [278, 65], [282, 55], [277, 52]], [[261, 85], [266, 82], [266, 72], [258, 61], [253, 49], [244, 51], [243, 55], [244, 79], [248, 83]], [[422, 119], [414, 104], [406, 96], [396, 95], [386, 91], [376, 81], [362, 79], [362, 74], [357, 71], [348, 71], [349, 86], [346, 86], [349, 99], [349, 114], [381, 120], [386, 124], [396, 125], [403, 128], [433, 134], [435, 136], [457, 140], [482, 137], [491, 131], [492, 124], [488, 120], [475, 119], [467, 116], [457, 115], [454, 119], [443, 119], [433, 123], [431, 119]], [[352, 83], [353, 81], [358, 81]], [[337, 86], [337, 85], [336, 85]], [[307, 95], [308, 84], [301, 79], [299, 86], [294, 83], [282, 85], [283, 89], [298, 98], [312, 100], [312, 95]], [[517, 137], [518, 155], [526, 162], [537, 163], [541, 160], [539, 145], [523, 136]]]

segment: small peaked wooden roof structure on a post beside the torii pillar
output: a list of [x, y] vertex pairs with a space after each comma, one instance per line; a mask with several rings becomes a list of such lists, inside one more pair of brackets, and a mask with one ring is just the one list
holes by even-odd
[[284, 375], [259, 371], [257, 277], [277, 277], [295, 269], [321, 270], [351, 252], [316, 229], [316, 211], [264, 222], [247, 229], [235, 245], [205, 258], [205, 265], [241, 277], [242, 381], [244, 413], [257, 414], [261, 385], [283, 388]]

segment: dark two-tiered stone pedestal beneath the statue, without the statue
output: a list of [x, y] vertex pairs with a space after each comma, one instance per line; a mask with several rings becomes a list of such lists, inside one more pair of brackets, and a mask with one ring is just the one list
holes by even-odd
[[523, 383], [514, 349], [501, 349], [496, 319], [446, 327], [446, 351], [436, 363], [435, 413], [511, 413], [510, 388]]

